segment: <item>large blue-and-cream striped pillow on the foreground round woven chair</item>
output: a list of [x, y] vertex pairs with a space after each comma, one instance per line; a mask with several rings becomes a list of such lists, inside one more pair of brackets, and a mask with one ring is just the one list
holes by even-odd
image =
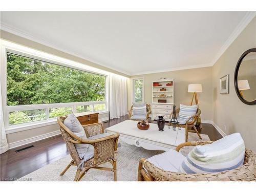
[[244, 163], [245, 144], [240, 133], [207, 145], [196, 146], [178, 169], [180, 173], [216, 173], [238, 168]]

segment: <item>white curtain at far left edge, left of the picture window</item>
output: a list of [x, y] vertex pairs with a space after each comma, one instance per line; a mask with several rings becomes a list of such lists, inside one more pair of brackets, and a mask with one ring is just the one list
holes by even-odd
[[2, 91], [1, 91], [1, 83], [0, 83], [0, 134], [1, 134], [1, 141], [0, 141], [0, 154], [5, 153], [9, 146], [6, 139], [5, 133], [5, 123], [4, 123], [4, 114], [3, 114], [3, 103], [2, 103]]

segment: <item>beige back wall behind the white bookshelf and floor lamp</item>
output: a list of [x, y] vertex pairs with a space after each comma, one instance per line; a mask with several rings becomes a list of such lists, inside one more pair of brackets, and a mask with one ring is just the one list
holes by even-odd
[[[212, 120], [212, 68], [197, 68], [179, 71], [169, 71], [163, 73], [153, 73], [145, 75], [137, 75], [133, 77], [144, 77], [145, 83], [145, 101], [152, 102], [152, 81], [161, 77], [174, 78], [174, 102], [177, 106], [182, 104], [190, 104], [193, 94], [187, 92], [188, 84], [202, 83], [203, 93], [198, 93], [199, 107], [202, 111], [201, 118], [203, 120]], [[132, 94], [130, 94], [130, 98]], [[131, 105], [132, 99], [128, 103]], [[194, 100], [195, 102], [195, 100]]]

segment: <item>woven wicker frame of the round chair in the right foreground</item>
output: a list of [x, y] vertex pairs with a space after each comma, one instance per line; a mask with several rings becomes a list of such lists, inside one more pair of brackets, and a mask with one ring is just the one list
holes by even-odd
[[[183, 146], [196, 146], [212, 143], [211, 141], [193, 141], [177, 146], [179, 152]], [[168, 172], [156, 167], [144, 158], [140, 159], [138, 181], [256, 181], [256, 154], [245, 149], [244, 165], [225, 172], [211, 174], [183, 174]]]

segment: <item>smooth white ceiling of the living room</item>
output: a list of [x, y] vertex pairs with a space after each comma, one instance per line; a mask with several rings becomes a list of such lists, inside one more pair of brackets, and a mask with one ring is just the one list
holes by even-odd
[[[3, 30], [127, 75], [212, 66], [249, 12], [1, 12]], [[248, 22], [247, 22], [248, 23]], [[242, 27], [241, 27], [242, 26]]]

